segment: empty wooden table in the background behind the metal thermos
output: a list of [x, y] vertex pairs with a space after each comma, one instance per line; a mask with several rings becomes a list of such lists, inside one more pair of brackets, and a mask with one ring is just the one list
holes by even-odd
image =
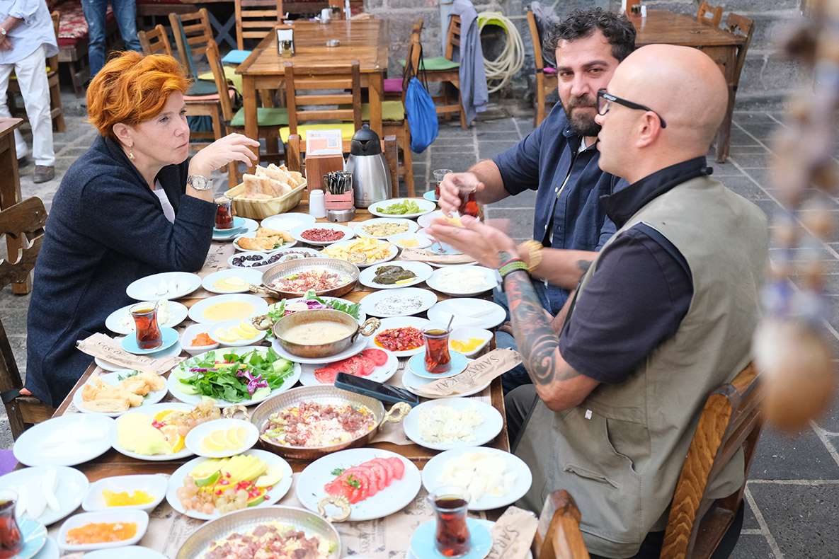
[[[236, 73], [242, 75], [245, 135], [259, 139], [257, 91], [279, 87], [285, 73], [285, 62], [293, 62], [295, 66], [317, 66], [349, 65], [358, 60], [362, 87], [367, 87], [370, 94], [370, 128], [382, 137], [383, 80], [388, 70], [388, 20], [332, 20], [326, 24], [295, 21], [293, 26], [294, 56], [289, 59], [280, 56], [277, 34], [269, 33], [236, 69]], [[340, 40], [340, 46], [327, 47], [326, 41], [331, 39]], [[254, 153], [259, 155], [258, 148], [254, 149]]]

